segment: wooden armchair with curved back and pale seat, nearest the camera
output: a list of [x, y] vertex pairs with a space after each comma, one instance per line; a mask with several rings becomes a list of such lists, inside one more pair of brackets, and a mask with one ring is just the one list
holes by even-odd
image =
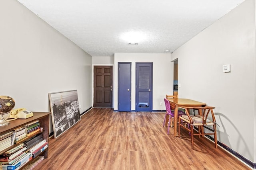
[[[217, 148], [217, 134], [216, 134], [216, 122], [215, 122], [215, 117], [213, 113], [213, 109], [215, 107], [211, 106], [205, 106], [205, 107], [182, 107], [185, 108], [186, 110], [186, 115], [182, 115], [179, 117], [179, 138], [180, 138], [180, 127], [183, 127], [187, 131], [191, 133], [191, 147], [194, 149], [194, 135], [214, 135], [214, 143], [215, 143], [215, 148]], [[190, 115], [189, 114], [189, 109], [198, 109], [201, 115]], [[211, 114], [209, 114], [211, 113]], [[212, 115], [212, 120], [208, 119], [208, 115]], [[180, 122], [186, 122], [189, 124], [190, 128], [185, 127], [182, 125]], [[198, 126], [198, 133], [194, 133], [194, 126]], [[213, 126], [213, 133], [204, 133], [204, 126]]]

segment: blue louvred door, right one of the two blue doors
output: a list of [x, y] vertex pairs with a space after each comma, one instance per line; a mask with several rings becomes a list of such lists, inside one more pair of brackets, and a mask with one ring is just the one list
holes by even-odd
[[136, 63], [136, 111], [152, 111], [153, 63]]

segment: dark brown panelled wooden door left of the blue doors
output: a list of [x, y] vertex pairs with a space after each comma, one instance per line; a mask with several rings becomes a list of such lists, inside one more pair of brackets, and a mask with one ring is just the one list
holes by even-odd
[[94, 66], [93, 107], [112, 107], [112, 66]]

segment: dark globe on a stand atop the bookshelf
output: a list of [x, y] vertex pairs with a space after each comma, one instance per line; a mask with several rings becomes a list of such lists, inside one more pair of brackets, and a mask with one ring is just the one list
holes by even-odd
[[9, 122], [4, 120], [3, 115], [9, 113], [15, 106], [15, 101], [10, 96], [0, 96], [0, 126], [8, 125]]

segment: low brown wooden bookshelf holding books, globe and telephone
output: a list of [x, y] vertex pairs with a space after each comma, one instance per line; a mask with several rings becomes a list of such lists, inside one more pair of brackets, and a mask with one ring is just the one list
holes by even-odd
[[[19, 127], [25, 126], [28, 123], [31, 123], [33, 121], [39, 120], [40, 127], [44, 127], [44, 130], [43, 131], [38, 131], [38, 132], [34, 133], [31, 136], [27, 136], [26, 138], [20, 140], [19, 143], [23, 143], [24, 141], [26, 141], [26, 140], [28, 140], [28, 139], [38, 135], [39, 133], [42, 133], [43, 138], [46, 140], [46, 142], [48, 142], [48, 140], [49, 140], [49, 119], [50, 119], [50, 114], [51, 114], [50, 112], [34, 112], [33, 111], [33, 115], [34, 115], [33, 117], [30, 117], [28, 119], [16, 119], [14, 121], [10, 121], [9, 125], [0, 126], [0, 135], [2, 135], [4, 133], [8, 133], [8, 132], [10, 132], [10, 131], [12, 131], [14, 129], [19, 128]], [[6, 152], [7, 150], [15, 147], [16, 145], [19, 145], [19, 144], [14, 144], [13, 146], [11, 146], [11, 147], [9, 147], [9, 148], [7, 148], [5, 150], [2, 150], [0, 152], [0, 154], [2, 154], [4, 152]], [[40, 155], [44, 156], [44, 158], [47, 158], [48, 157], [48, 148], [46, 148]], [[24, 166], [26, 166], [26, 164]], [[24, 166], [22, 166], [22, 167], [24, 167]]]

